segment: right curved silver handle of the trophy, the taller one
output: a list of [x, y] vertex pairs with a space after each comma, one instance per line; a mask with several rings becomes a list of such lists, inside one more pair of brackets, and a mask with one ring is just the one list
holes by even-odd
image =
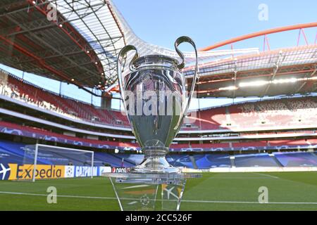
[[176, 39], [175, 44], [174, 44], [175, 50], [178, 53], [178, 56], [180, 56], [180, 58], [182, 59], [182, 62], [180, 64], [178, 64], [178, 69], [180, 70], [180, 69], [185, 67], [185, 57], [184, 57], [183, 53], [180, 51], [180, 49], [178, 49], [178, 46], [183, 42], [187, 42], [193, 46], [194, 51], [195, 51], [195, 56], [196, 56], [196, 65], [195, 65], [194, 78], [192, 79], [192, 88], [190, 89], [188, 100], [185, 104], [184, 110], [182, 111], [182, 117], [180, 117], [180, 121], [178, 122], [178, 126], [180, 125], [180, 122], [182, 122], [183, 117], [185, 117], [185, 113], [187, 113], [190, 101], [192, 101], [192, 94], [194, 94], [195, 84], [196, 84], [196, 80], [198, 77], [198, 55], [197, 55], [196, 45], [194, 44], [194, 41], [190, 37], [187, 37], [187, 36], [179, 37], [178, 39]]

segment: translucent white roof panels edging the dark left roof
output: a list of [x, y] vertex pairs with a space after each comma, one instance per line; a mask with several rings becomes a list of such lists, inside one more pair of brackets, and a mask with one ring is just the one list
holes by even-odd
[[109, 1], [56, 0], [57, 10], [82, 34], [97, 53], [104, 68], [104, 76], [113, 82], [116, 76], [116, 58], [125, 46], [125, 38]]

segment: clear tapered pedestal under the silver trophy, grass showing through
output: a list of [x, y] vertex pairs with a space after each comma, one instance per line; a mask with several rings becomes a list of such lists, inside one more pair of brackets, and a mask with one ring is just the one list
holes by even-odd
[[188, 178], [200, 174], [104, 173], [109, 177], [121, 211], [180, 210]]

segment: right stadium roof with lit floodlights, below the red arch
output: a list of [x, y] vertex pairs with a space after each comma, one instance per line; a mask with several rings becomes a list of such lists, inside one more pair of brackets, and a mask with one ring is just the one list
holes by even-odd
[[[197, 92], [230, 98], [313, 92], [316, 70], [317, 45], [264, 51], [201, 64]], [[194, 71], [184, 73], [192, 77]]]

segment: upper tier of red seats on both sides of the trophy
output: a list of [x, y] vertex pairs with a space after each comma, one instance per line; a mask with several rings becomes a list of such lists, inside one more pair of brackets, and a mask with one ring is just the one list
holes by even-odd
[[[2, 77], [5, 77], [4, 75], [6, 74], [2, 72]], [[6, 79], [0, 79], [0, 92], [4, 96], [10, 96], [76, 120], [129, 127], [127, 117], [116, 110], [101, 109], [66, 96], [59, 96], [13, 75], [6, 75]], [[184, 125], [182, 129], [189, 131], [251, 129], [256, 131], [276, 126], [316, 127], [316, 108], [317, 97], [239, 103], [199, 110], [196, 115], [189, 115], [191, 126]]]

